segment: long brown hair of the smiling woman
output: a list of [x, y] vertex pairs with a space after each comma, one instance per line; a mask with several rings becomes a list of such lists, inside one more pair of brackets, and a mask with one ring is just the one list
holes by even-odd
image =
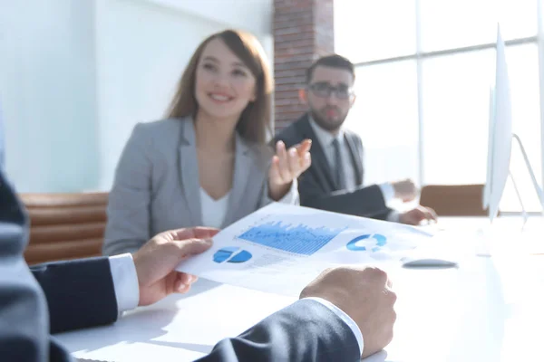
[[242, 111], [236, 129], [243, 138], [265, 144], [267, 142], [267, 132], [272, 135], [273, 129], [270, 113], [274, 81], [267, 64], [267, 55], [257, 38], [251, 33], [226, 30], [221, 33], [214, 33], [200, 43], [196, 52], [190, 58], [187, 68], [183, 71], [176, 95], [170, 103], [168, 117], [182, 118], [196, 115], [197, 110], [199, 110], [199, 103], [195, 97], [197, 66], [204, 47], [211, 40], [217, 38], [227, 44], [228, 49], [244, 62], [257, 80], [257, 97], [255, 101], [249, 102], [246, 109]]

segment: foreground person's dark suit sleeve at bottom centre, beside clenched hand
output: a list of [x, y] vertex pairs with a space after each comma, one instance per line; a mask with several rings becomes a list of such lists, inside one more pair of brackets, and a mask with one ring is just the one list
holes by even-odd
[[299, 300], [257, 323], [238, 338], [220, 341], [199, 362], [359, 361], [354, 333], [314, 300]]

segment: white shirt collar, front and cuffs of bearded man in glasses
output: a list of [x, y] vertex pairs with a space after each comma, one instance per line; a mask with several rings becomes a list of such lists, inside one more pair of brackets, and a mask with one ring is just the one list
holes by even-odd
[[[316, 138], [319, 141], [321, 148], [323, 148], [325, 152], [326, 160], [331, 169], [333, 170], [335, 170], [335, 147], [333, 145], [333, 141], [335, 139], [338, 140], [338, 144], [340, 145], [340, 154], [342, 157], [342, 161], [344, 162], [343, 168], [345, 189], [348, 192], [355, 191], [355, 189], [357, 188], [357, 185], [355, 183], [355, 167], [353, 165], [353, 162], [351, 162], [352, 155], [345, 142], [344, 130], [340, 129], [338, 131], [338, 134], [334, 135], [326, 129], [322, 129], [321, 127], [319, 127], [316, 121], [312, 119], [312, 117], [308, 116], [308, 119], [310, 121], [310, 126], [312, 127], [312, 129], [314, 129], [314, 133], [316, 133]], [[386, 182], [378, 186], [380, 187], [382, 195], [384, 196], [385, 205], [390, 205], [394, 199], [393, 185], [389, 182]], [[387, 220], [398, 222], [398, 216], [399, 214], [397, 212], [392, 212], [387, 216]]]

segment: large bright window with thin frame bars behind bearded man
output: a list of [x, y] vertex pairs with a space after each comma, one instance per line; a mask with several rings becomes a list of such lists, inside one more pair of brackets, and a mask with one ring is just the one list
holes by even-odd
[[[507, 42], [513, 130], [542, 185], [539, 1], [335, 0], [335, 51], [356, 64], [347, 127], [364, 139], [366, 182], [484, 183], [497, 21]], [[517, 144], [510, 170], [539, 210]], [[501, 204], [520, 210], [509, 180]]]

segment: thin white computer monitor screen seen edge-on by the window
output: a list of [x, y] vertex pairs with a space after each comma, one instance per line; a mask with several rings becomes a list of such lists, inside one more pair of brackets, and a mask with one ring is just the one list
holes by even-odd
[[510, 174], [512, 148], [512, 113], [510, 78], [505, 44], [497, 26], [495, 84], [490, 92], [490, 126], [488, 135], [487, 177], [483, 192], [483, 207], [489, 207], [490, 220], [499, 213], [499, 204]]

